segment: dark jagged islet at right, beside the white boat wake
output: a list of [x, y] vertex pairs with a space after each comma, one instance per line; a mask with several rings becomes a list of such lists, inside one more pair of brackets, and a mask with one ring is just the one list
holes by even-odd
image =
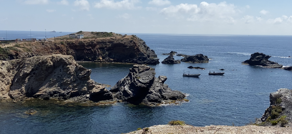
[[256, 66], [264, 66], [264, 67], [269, 67], [269, 68], [281, 68], [283, 65], [278, 64], [277, 62], [274, 61], [269, 61], [268, 59], [272, 57], [269, 55], [265, 55], [263, 53], [255, 52], [251, 54], [251, 58], [243, 61], [242, 63], [244, 64], [249, 64], [249, 65], [256, 65]]

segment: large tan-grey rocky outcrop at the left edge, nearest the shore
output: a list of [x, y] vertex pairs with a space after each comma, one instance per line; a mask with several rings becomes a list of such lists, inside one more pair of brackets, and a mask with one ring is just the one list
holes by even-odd
[[[90, 79], [91, 70], [70, 55], [46, 55], [0, 61], [0, 97], [28, 97], [76, 102], [113, 99], [105, 86]], [[0, 98], [3, 99], [3, 98]]]

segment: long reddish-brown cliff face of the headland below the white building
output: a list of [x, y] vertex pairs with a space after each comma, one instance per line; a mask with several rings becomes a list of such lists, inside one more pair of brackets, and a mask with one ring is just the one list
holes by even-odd
[[[95, 62], [125, 62], [157, 64], [159, 59], [142, 39], [135, 35], [124, 38], [67, 39], [59, 41], [31, 42], [8, 47], [1, 52], [2, 60], [33, 56], [62, 54], [72, 55], [75, 60]], [[138, 58], [138, 57], [143, 58]], [[145, 62], [144, 62], [145, 61]]]

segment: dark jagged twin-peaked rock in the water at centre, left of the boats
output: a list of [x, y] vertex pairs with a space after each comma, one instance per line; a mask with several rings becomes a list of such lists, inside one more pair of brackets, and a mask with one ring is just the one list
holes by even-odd
[[145, 65], [134, 65], [130, 73], [119, 80], [111, 88], [114, 97], [132, 104], [143, 104], [147, 106], [171, 103], [185, 97], [180, 91], [172, 91], [164, 84], [167, 77], [155, 77], [154, 68]]

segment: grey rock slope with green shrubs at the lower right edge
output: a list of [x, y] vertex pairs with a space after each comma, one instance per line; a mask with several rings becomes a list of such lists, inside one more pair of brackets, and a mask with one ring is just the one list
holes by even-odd
[[292, 90], [281, 88], [270, 93], [270, 107], [255, 124], [260, 126], [291, 126], [292, 121]]

